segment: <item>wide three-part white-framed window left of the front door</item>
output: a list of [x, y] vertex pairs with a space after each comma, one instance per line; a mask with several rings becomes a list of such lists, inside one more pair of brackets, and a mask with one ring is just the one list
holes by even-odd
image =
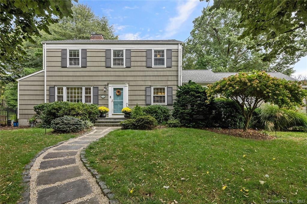
[[93, 100], [92, 87], [63, 86], [56, 87], [56, 101], [91, 104]]

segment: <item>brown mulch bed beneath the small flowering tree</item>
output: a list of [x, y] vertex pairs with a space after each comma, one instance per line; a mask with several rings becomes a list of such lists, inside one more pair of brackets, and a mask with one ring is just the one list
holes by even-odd
[[205, 130], [216, 132], [224, 135], [231, 135], [235, 137], [241, 137], [245, 139], [256, 139], [256, 140], [267, 140], [275, 139], [272, 135], [263, 134], [258, 130], [247, 129], [246, 132], [243, 132], [241, 129], [226, 129], [226, 128], [204, 128]]

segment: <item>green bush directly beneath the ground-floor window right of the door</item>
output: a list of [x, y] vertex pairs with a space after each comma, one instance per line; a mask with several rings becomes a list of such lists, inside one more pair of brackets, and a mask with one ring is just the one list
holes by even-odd
[[169, 120], [169, 108], [163, 105], [149, 105], [142, 108], [143, 112], [153, 116], [159, 124]]

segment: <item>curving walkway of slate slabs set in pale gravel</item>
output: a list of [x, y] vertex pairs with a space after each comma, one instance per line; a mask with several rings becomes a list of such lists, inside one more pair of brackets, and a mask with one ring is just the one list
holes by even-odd
[[30, 170], [29, 204], [107, 204], [95, 178], [80, 160], [83, 147], [117, 128], [95, 128], [87, 135], [52, 147]]

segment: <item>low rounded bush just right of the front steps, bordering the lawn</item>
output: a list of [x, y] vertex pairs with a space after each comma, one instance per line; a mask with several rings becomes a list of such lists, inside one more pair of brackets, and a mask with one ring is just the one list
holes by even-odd
[[122, 129], [152, 130], [157, 126], [157, 120], [152, 116], [139, 116], [121, 122]]

